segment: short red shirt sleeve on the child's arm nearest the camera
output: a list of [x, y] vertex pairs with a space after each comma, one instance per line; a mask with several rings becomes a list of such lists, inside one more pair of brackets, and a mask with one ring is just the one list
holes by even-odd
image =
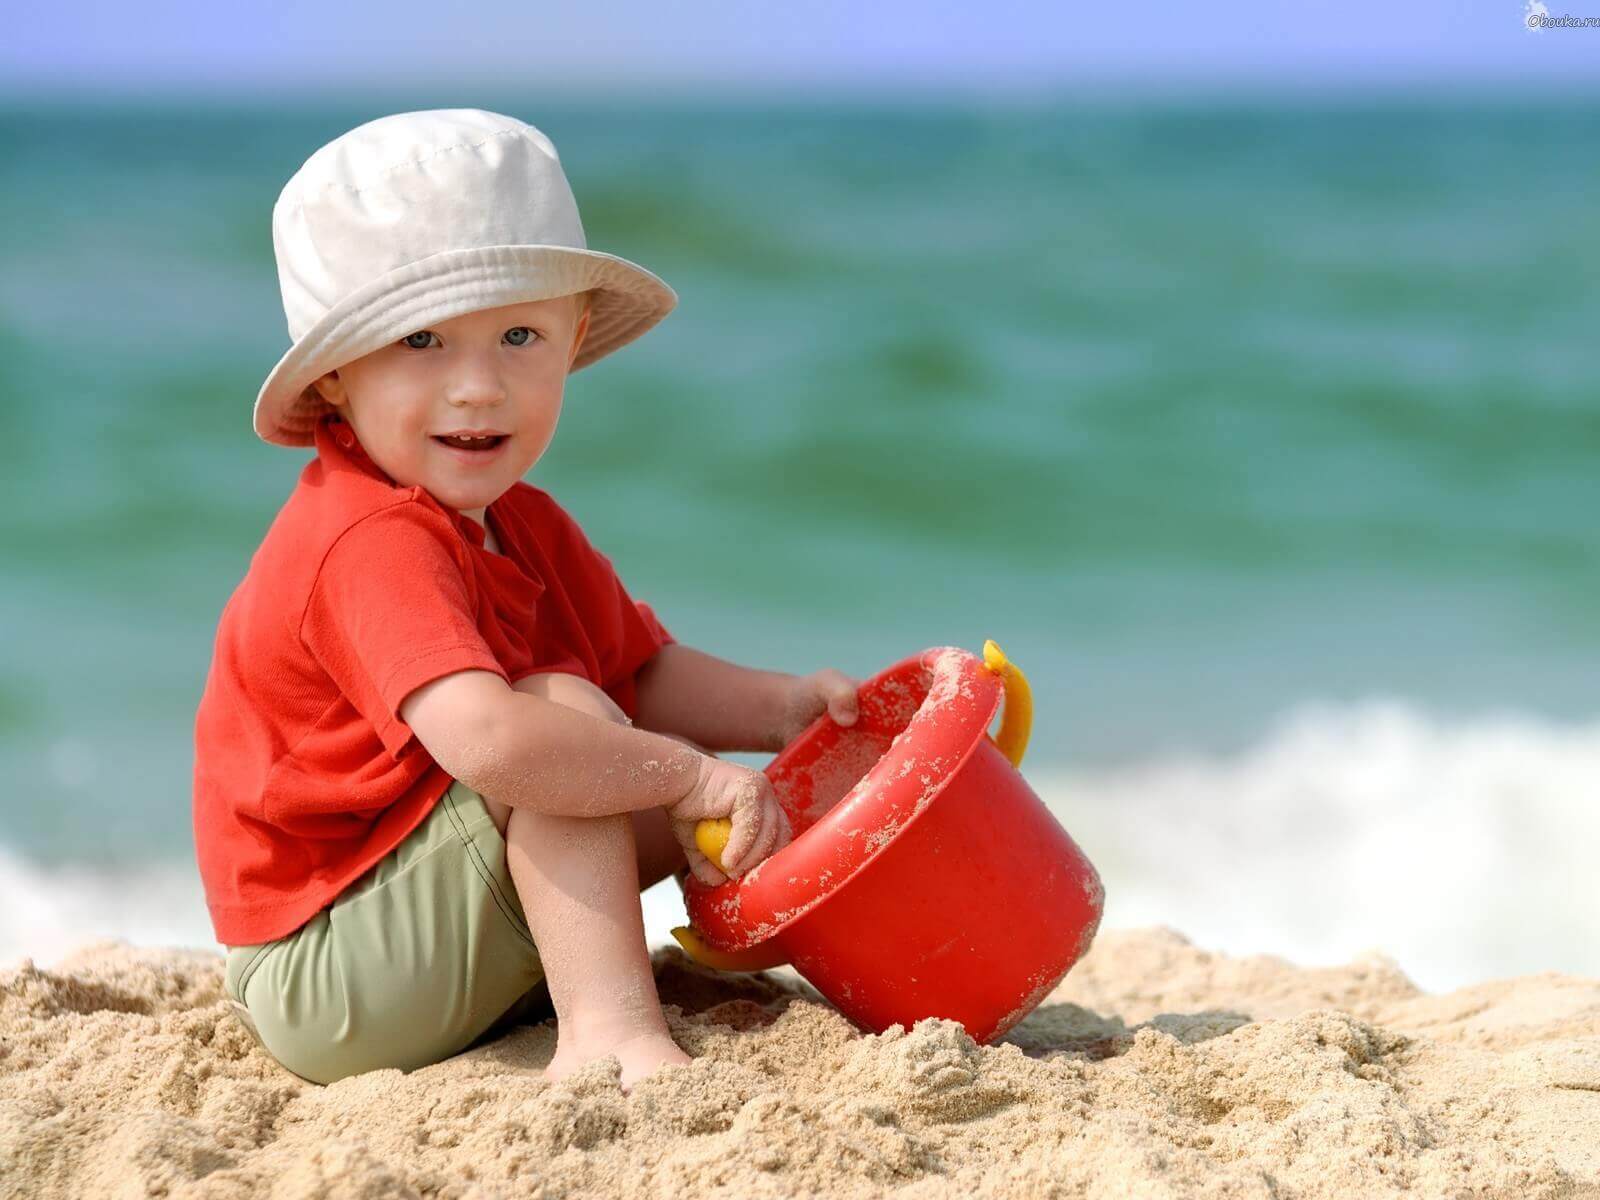
[[458, 541], [422, 504], [381, 509], [334, 541], [306, 602], [301, 642], [397, 760], [413, 736], [400, 701], [416, 688], [472, 669], [507, 678], [478, 632]]

